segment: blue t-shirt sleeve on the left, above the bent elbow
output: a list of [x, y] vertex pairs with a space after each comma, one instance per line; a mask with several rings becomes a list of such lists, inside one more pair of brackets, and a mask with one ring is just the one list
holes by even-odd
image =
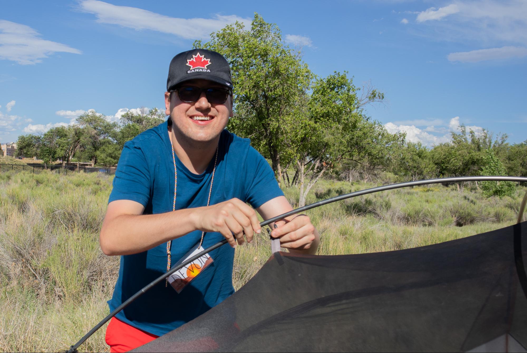
[[133, 141], [126, 142], [117, 163], [108, 203], [132, 200], [146, 207], [150, 199], [150, 188], [150, 172], [143, 151]]

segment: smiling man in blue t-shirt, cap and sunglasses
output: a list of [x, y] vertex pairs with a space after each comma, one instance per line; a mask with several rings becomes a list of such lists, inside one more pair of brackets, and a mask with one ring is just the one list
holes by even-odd
[[[211, 251], [212, 262], [192, 270], [182, 289], [160, 283], [118, 313], [106, 329], [111, 351], [145, 344], [230, 296], [233, 248], [244, 233], [251, 242], [261, 232], [253, 208], [264, 219], [291, 210], [267, 161], [225, 130], [232, 80], [222, 55], [200, 49], [174, 56], [165, 107], [167, 122], [127, 142], [115, 173], [100, 235], [105, 254], [121, 255], [110, 310], [198, 246], [226, 238], [230, 247]], [[305, 215], [276, 222], [271, 236], [292, 252], [315, 253], [319, 243]]]

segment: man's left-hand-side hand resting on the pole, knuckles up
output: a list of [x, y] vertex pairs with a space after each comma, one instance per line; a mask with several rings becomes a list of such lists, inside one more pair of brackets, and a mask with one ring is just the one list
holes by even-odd
[[233, 248], [237, 241], [238, 244], [243, 244], [244, 232], [248, 242], [252, 241], [253, 232], [261, 232], [256, 211], [239, 199], [231, 199], [195, 210], [196, 228], [206, 232], [221, 233]]

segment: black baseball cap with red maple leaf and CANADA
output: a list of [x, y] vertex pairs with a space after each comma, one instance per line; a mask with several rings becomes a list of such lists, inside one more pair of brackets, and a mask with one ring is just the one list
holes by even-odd
[[192, 49], [172, 58], [168, 69], [167, 92], [181, 82], [203, 79], [213, 81], [232, 90], [230, 67], [220, 53], [207, 49]]

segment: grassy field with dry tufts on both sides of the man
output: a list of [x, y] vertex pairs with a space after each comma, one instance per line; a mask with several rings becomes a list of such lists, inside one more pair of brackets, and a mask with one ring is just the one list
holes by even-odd
[[[0, 173], [0, 351], [65, 350], [108, 314], [118, 257], [98, 237], [112, 177], [43, 171]], [[322, 180], [308, 203], [376, 186]], [[298, 190], [286, 188], [292, 204]], [[483, 198], [440, 184], [348, 199], [308, 211], [321, 234], [319, 254], [424, 246], [514, 223], [515, 198]], [[267, 261], [265, 234], [238, 247], [233, 284], [240, 288]], [[104, 329], [83, 351], [108, 351]]]

